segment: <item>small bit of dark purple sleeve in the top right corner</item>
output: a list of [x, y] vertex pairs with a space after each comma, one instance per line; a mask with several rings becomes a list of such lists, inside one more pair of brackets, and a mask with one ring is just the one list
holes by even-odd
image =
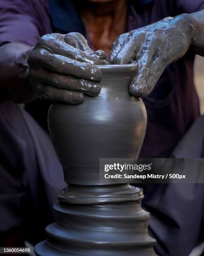
[[204, 0], [178, 0], [177, 3], [182, 13], [194, 13], [204, 9]]

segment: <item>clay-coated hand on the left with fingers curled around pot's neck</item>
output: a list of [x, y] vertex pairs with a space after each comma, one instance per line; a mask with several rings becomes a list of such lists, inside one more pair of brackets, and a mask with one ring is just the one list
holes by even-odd
[[33, 92], [41, 99], [80, 104], [84, 94], [100, 93], [101, 71], [107, 64], [103, 51], [92, 51], [80, 33], [42, 36], [28, 58]]

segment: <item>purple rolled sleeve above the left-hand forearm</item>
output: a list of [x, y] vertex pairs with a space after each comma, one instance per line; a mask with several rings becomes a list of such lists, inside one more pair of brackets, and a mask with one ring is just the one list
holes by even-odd
[[[44, 15], [44, 17], [43, 17]], [[17, 42], [33, 46], [50, 33], [44, 6], [37, 0], [0, 0], [0, 44]]]

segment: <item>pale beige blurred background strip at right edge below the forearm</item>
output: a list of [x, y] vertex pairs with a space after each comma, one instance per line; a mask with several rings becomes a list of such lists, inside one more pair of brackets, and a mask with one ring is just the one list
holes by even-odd
[[201, 114], [204, 114], [204, 57], [196, 56], [194, 81], [200, 99]]

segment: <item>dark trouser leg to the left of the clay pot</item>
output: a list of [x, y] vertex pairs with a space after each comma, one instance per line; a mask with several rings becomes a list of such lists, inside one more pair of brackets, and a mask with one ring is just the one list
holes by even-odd
[[64, 187], [47, 133], [19, 105], [1, 102], [0, 242], [44, 239], [45, 226], [54, 220], [52, 206]]

